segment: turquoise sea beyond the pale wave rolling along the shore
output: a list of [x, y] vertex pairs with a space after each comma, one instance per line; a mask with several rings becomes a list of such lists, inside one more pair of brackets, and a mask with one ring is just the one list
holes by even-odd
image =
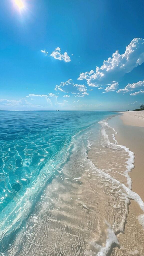
[[29, 183], [34, 184], [43, 169], [50, 175], [52, 163], [56, 166], [65, 161], [75, 134], [113, 114], [95, 111], [1, 111], [0, 211]]

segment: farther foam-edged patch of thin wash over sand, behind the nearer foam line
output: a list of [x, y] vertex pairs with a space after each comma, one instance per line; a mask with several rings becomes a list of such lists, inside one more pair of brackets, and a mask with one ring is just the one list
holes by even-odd
[[95, 131], [90, 133], [91, 151], [88, 156], [97, 168], [109, 174], [131, 189], [128, 172], [134, 167], [134, 153], [128, 148], [118, 145], [115, 140], [116, 131], [107, 122], [100, 122], [102, 137], [95, 138]]

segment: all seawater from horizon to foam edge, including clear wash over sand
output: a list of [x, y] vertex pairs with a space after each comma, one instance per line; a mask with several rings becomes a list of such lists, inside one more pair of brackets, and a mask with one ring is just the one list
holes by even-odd
[[[121, 177], [129, 187], [126, 171], [133, 158], [100, 122], [115, 114], [0, 112], [2, 255], [106, 255], [118, 243], [115, 233], [124, 229], [129, 202]], [[92, 147], [95, 165], [87, 158]], [[111, 168], [108, 151], [113, 159], [121, 154], [122, 167], [113, 160]]]

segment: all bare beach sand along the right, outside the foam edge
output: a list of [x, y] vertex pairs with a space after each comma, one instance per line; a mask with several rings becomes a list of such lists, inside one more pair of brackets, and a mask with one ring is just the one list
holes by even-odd
[[[129, 173], [129, 176], [132, 179], [132, 191], [139, 194], [144, 201], [144, 112], [122, 113], [123, 115], [108, 120], [108, 124], [118, 132], [116, 134], [118, 144], [125, 145], [135, 153], [135, 167]], [[121, 246], [120, 248], [114, 248], [111, 255], [143, 256], [140, 250], [143, 247], [144, 231], [138, 221], [138, 216], [141, 214], [143, 212], [138, 204], [130, 200], [125, 232], [117, 236]]]

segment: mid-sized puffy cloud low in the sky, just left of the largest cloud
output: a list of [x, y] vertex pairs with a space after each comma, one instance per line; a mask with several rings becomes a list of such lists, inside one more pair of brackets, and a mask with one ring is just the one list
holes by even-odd
[[89, 95], [87, 93], [87, 87], [84, 84], [74, 84], [72, 79], [68, 79], [66, 82], [61, 82], [60, 85], [56, 85], [55, 91], [61, 91], [74, 94], [74, 97], [84, 97]]

